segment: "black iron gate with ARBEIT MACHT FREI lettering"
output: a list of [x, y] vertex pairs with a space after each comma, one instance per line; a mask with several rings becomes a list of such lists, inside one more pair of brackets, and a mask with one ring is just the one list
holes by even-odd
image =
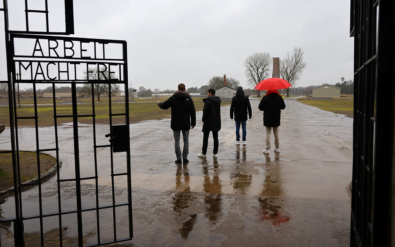
[[[11, 147], [0, 152], [12, 154], [15, 193], [8, 202], [15, 210], [0, 208], [0, 225], [8, 226], [15, 246], [132, 239], [126, 41], [48, 35], [73, 32], [72, 0], [65, 0], [64, 33], [49, 32], [48, 16], [45, 32], [31, 31], [28, 13], [49, 11], [28, 9], [27, 1], [26, 30], [8, 31], [7, 1], [3, 4]], [[39, 92], [43, 84], [51, 92]], [[22, 106], [20, 85], [32, 87], [31, 102]], [[51, 119], [43, 111], [50, 111]], [[38, 175], [28, 184], [21, 182], [25, 164], [19, 162], [26, 149], [36, 152]], [[40, 153], [56, 158], [55, 177], [41, 177]], [[6, 238], [0, 232], [0, 246], [7, 245]]]

